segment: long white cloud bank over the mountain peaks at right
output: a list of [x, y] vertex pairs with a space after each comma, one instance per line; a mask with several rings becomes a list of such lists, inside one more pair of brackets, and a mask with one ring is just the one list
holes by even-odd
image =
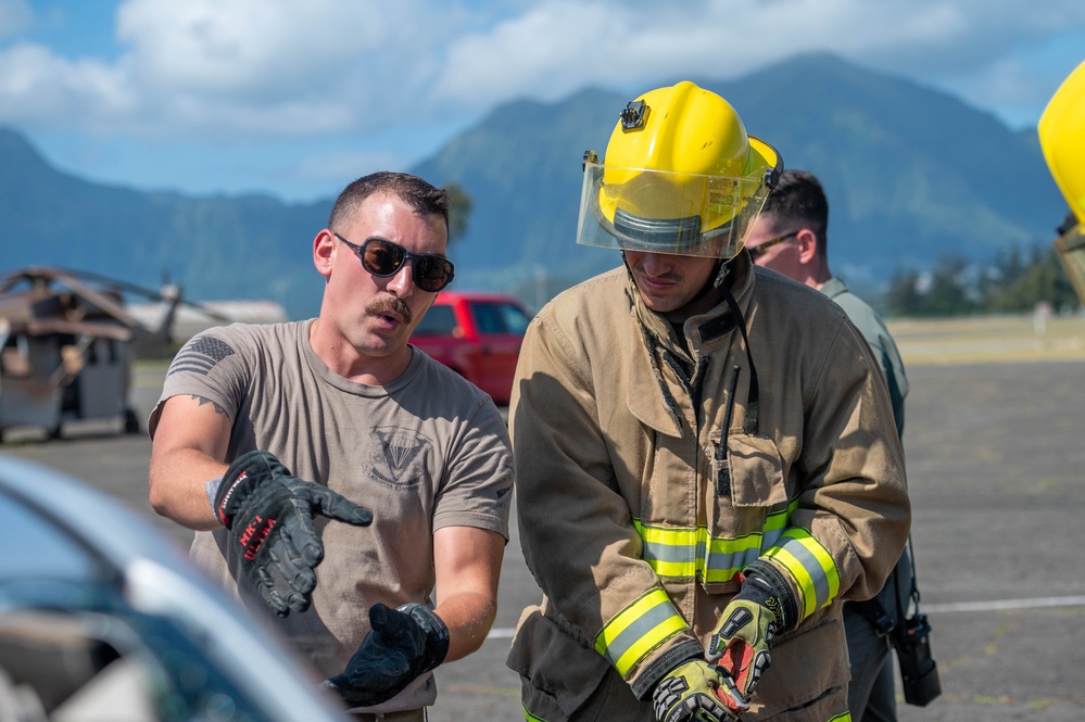
[[999, 77], [1000, 63], [1075, 27], [1085, 42], [1080, 0], [706, 0], [645, 7], [554, 0], [456, 40], [434, 91], [487, 106], [525, 93], [553, 99], [585, 85], [646, 90], [680, 77], [742, 76], [798, 52], [828, 50], [989, 106], [1048, 88], [1050, 81], [1035, 83], [1036, 68], [1024, 62], [1011, 88]]

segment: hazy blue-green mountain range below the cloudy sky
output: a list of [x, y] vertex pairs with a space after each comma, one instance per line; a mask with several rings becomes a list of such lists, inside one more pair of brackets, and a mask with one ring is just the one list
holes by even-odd
[[[1035, 130], [1011, 130], [942, 91], [824, 53], [739, 79], [711, 74], [687, 79], [726, 98], [785, 166], [820, 177], [834, 270], [857, 287], [942, 256], [983, 263], [1046, 242], [1067, 214]], [[619, 263], [575, 236], [583, 152], [603, 155], [630, 100], [589, 88], [552, 103], [510, 102], [409, 168], [471, 200], [467, 230], [450, 249], [456, 288], [509, 291], [538, 306]], [[58, 265], [152, 288], [168, 276], [188, 299], [270, 299], [302, 318], [319, 308], [311, 243], [333, 201], [97, 183], [0, 128], [0, 273]]]

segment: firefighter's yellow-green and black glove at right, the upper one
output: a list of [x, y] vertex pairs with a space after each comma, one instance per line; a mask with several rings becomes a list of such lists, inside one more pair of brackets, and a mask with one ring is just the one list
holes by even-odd
[[723, 609], [705, 658], [717, 663], [734, 680], [743, 698], [748, 700], [768, 669], [772, 657], [769, 644], [782, 619], [780, 604], [759, 577], [746, 577], [742, 588]]

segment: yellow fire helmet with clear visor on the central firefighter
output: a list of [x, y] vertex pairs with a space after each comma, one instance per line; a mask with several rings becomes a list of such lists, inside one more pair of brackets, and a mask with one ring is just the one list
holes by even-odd
[[683, 81], [621, 112], [603, 163], [584, 153], [577, 243], [732, 258], [783, 161], [718, 94]]

